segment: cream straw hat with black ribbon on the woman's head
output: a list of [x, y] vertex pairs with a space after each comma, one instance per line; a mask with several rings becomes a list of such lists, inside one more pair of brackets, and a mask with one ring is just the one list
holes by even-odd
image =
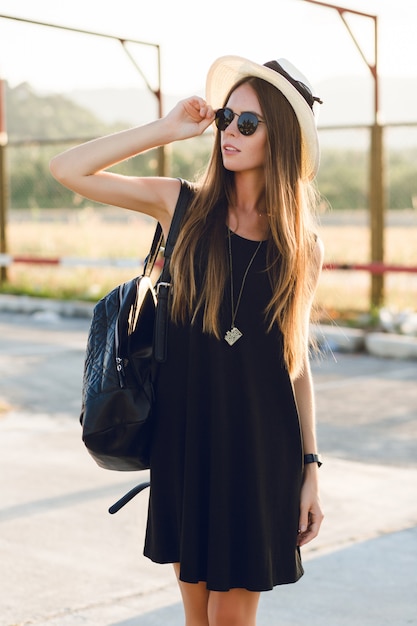
[[318, 103], [307, 78], [286, 59], [259, 65], [238, 56], [224, 56], [210, 67], [206, 82], [206, 99], [214, 110], [225, 105], [225, 99], [233, 85], [242, 78], [262, 78], [279, 89], [297, 116], [302, 138], [303, 177], [315, 177], [320, 161], [317, 134]]

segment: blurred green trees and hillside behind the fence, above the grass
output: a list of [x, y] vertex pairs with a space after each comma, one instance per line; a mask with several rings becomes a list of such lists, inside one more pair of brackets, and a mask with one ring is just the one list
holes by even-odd
[[[7, 167], [10, 207], [82, 208], [91, 202], [64, 189], [51, 177], [49, 160], [70, 145], [121, 130], [62, 95], [39, 95], [29, 84], [6, 85]], [[194, 180], [207, 163], [212, 138], [205, 134], [168, 148], [170, 175]], [[387, 208], [409, 209], [417, 202], [417, 147], [387, 151]], [[155, 175], [157, 155], [150, 151], [116, 167], [130, 175]], [[322, 148], [317, 178], [321, 194], [333, 210], [367, 207], [366, 148]], [[415, 207], [414, 207], [415, 208]]]

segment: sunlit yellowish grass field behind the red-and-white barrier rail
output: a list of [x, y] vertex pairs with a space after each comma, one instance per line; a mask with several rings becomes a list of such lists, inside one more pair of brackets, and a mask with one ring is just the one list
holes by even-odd
[[[395, 213], [387, 220], [386, 263], [417, 266], [417, 215]], [[111, 208], [82, 211], [15, 211], [8, 227], [9, 253], [35, 257], [137, 259], [136, 267], [60, 267], [13, 264], [3, 291], [95, 300], [141, 271], [154, 230], [151, 219]], [[366, 263], [370, 233], [366, 216], [334, 212], [321, 220], [327, 263]], [[322, 314], [369, 311], [370, 275], [365, 271], [324, 271], [317, 293]], [[385, 304], [417, 309], [417, 274], [385, 276]]]

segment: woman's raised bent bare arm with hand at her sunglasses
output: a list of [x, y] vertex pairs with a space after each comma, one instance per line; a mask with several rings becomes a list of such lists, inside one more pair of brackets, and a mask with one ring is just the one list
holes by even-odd
[[178, 180], [106, 170], [141, 152], [200, 135], [213, 119], [212, 108], [202, 98], [187, 98], [159, 120], [66, 150], [52, 159], [51, 173], [90, 200], [146, 213], [164, 225], [175, 207]]

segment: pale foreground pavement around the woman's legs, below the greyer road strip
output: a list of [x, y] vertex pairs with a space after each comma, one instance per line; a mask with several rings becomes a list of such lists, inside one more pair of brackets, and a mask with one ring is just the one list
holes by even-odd
[[[140, 478], [96, 467], [74, 420], [12, 413], [0, 434], [0, 624], [182, 624], [171, 567], [141, 554], [147, 494], [107, 513]], [[262, 595], [259, 626], [417, 623], [417, 468], [322, 470], [305, 576]]]

